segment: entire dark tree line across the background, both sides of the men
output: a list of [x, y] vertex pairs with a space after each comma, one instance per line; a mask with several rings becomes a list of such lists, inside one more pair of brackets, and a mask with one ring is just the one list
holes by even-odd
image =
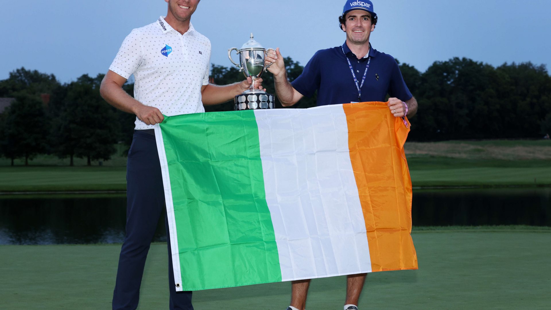
[[[399, 63], [399, 62], [398, 62]], [[285, 58], [292, 82], [302, 72], [299, 62]], [[545, 65], [512, 63], [493, 67], [468, 58], [434, 62], [425, 72], [402, 63], [404, 80], [419, 102], [410, 121], [409, 141], [489, 138], [538, 138], [551, 133], [551, 77]], [[0, 155], [25, 164], [38, 154], [60, 158], [107, 161], [115, 144], [132, 142], [134, 115], [118, 111], [99, 94], [104, 74], [84, 74], [60, 83], [53, 74], [20, 68], [0, 81], [0, 98], [15, 98], [0, 114]], [[211, 82], [219, 85], [244, 79], [235, 67], [212, 65]], [[273, 76], [263, 87], [275, 93]], [[123, 87], [133, 95], [133, 84]], [[44, 95], [48, 94], [48, 95]], [[316, 95], [290, 108], [310, 108]], [[283, 108], [276, 100], [276, 108]], [[233, 103], [206, 106], [230, 111]]]

